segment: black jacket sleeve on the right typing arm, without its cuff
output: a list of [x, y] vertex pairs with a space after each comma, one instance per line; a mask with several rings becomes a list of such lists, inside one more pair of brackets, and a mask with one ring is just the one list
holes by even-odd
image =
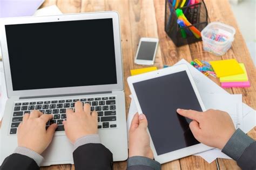
[[73, 152], [76, 170], [79, 169], [113, 169], [113, 155], [102, 144], [85, 144]]

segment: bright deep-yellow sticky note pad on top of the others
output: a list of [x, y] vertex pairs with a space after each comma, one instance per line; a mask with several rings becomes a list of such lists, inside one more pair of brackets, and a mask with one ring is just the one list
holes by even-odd
[[226, 59], [210, 62], [217, 77], [233, 76], [242, 74], [244, 71], [235, 59]]

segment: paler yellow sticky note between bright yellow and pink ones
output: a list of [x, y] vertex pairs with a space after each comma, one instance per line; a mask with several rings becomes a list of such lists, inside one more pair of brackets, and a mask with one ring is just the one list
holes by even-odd
[[237, 74], [234, 76], [226, 76], [226, 77], [220, 77], [220, 82], [238, 82], [238, 81], [248, 81], [248, 76], [245, 70], [245, 65], [243, 63], [239, 63], [239, 65], [242, 67], [242, 70], [244, 71], [243, 74]]

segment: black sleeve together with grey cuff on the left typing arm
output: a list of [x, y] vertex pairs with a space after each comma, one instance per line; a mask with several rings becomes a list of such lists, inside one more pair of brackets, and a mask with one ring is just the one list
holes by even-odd
[[43, 157], [26, 147], [17, 147], [15, 152], [5, 158], [1, 169], [39, 169]]

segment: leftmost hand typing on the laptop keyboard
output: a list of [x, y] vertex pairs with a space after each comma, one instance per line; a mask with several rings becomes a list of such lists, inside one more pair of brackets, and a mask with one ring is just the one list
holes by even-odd
[[45, 124], [52, 119], [52, 114], [43, 114], [33, 110], [25, 113], [22, 123], [18, 126], [18, 146], [29, 148], [41, 154], [50, 144], [57, 124], [52, 124], [45, 130]]

